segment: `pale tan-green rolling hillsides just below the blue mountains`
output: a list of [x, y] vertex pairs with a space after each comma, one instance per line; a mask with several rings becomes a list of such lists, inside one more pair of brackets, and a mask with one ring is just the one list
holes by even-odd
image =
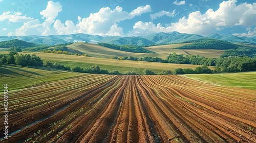
[[220, 57], [224, 51], [223, 50], [214, 50], [214, 49], [196, 49], [196, 50], [182, 50], [175, 49], [176, 47], [183, 46], [189, 43], [182, 44], [167, 44], [167, 45], [156, 45], [144, 47], [144, 49], [154, 52], [153, 53], [132, 53], [110, 49], [108, 47], [104, 47], [98, 44], [91, 44], [85, 42], [76, 42], [71, 45], [67, 45], [68, 52], [77, 53], [77, 54], [87, 54], [89, 57], [97, 57], [97, 58], [111, 58], [114, 56], [117, 57], [159, 57], [165, 59], [170, 53], [177, 53], [183, 55], [197, 55], [209, 58], [217, 58]]

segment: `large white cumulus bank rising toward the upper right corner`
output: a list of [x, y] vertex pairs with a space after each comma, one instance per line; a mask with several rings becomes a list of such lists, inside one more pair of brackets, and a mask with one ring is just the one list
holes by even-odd
[[[227, 27], [244, 26], [251, 27], [256, 25], [256, 3], [242, 3], [237, 5], [237, 0], [224, 1], [218, 10], [208, 9], [202, 14], [200, 11], [192, 12], [188, 17], [182, 17], [178, 22], [172, 22], [164, 27], [160, 23], [141, 21], [135, 23], [134, 30], [130, 34], [152, 32], [172, 32], [196, 33], [208, 35], [209, 32], [223, 30]], [[234, 14], [236, 16], [234, 16]], [[145, 30], [146, 29], [146, 30]], [[248, 34], [253, 33], [252, 31]]]

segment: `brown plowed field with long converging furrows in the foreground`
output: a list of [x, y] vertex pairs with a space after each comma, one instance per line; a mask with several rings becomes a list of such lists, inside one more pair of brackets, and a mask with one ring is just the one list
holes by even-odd
[[2, 142], [256, 142], [255, 90], [84, 74], [8, 95]]

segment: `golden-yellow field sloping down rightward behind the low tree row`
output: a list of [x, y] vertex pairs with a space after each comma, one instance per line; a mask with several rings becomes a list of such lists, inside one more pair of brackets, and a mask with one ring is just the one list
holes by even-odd
[[[1, 54], [2, 52], [0, 52]], [[59, 62], [69, 62], [76, 64], [93, 64], [93, 65], [105, 65], [111, 66], [112, 68], [130, 68], [130, 69], [155, 69], [155, 70], [175, 70], [177, 68], [192, 68], [195, 69], [199, 65], [191, 64], [171, 64], [171, 63], [157, 63], [157, 62], [144, 62], [144, 61], [129, 61], [129, 60], [113, 60], [113, 59], [103, 59], [94, 57], [84, 57], [84, 56], [74, 56], [74, 55], [62, 55], [62, 54], [52, 54], [52, 53], [39, 53], [39, 52], [22, 52], [23, 54], [36, 54], [44, 61], [59, 61]], [[214, 67], [209, 67], [214, 69]], [[115, 70], [115, 69], [113, 69]], [[130, 70], [132, 71], [132, 70]]]

